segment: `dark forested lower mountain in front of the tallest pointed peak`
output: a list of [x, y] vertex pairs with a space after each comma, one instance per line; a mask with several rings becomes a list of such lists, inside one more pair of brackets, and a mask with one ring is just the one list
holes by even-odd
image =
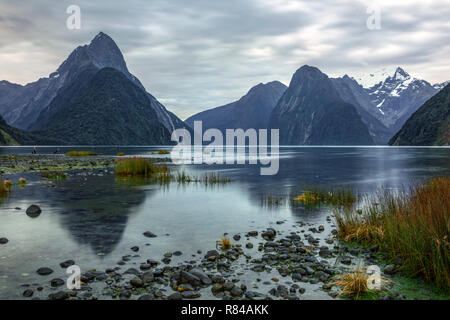
[[[47, 124], [34, 132], [58, 137], [68, 145], [169, 144], [162, 125], [142, 89], [114, 68], [87, 68], [68, 88], [65, 102]], [[64, 93], [62, 93], [64, 95]]]

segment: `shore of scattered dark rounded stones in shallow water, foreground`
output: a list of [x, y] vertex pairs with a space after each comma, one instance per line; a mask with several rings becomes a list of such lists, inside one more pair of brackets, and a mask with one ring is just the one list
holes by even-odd
[[[378, 248], [369, 249], [340, 245], [334, 240], [332, 219], [327, 226], [299, 222], [291, 232], [275, 228], [252, 230], [231, 236], [229, 248], [202, 252], [167, 252], [158, 259], [141, 257], [139, 245], [120, 258], [117, 265], [105, 270], [89, 270], [81, 274], [80, 289], [68, 290], [66, 279], [52, 278], [54, 270], [40, 267], [35, 272], [46, 280], [40, 284], [24, 284], [23, 297], [50, 300], [91, 299], [304, 299], [308, 291], [321, 291], [329, 299], [340, 298], [333, 277], [357, 265], [374, 264]], [[283, 221], [279, 221], [282, 224]], [[324, 237], [325, 230], [330, 233]], [[229, 236], [229, 235], [226, 235]], [[143, 242], [158, 237], [150, 231]], [[173, 257], [186, 257], [172, 264]], [[65, 269], [76, 264], [60, 263]], [[389, 277], [398, 266], [380, 266]], [[405, 299], [395, 292], [385, 292], [380, 299]]]

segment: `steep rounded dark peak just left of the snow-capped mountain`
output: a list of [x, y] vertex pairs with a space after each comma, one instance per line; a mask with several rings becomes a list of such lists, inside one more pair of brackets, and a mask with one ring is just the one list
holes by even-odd
[[319, 69], [305, 65], [292, 77], [274, 108], [271, 128], [280, 129], [287, 145], [372, 145], [355, 107], [344, 102]]

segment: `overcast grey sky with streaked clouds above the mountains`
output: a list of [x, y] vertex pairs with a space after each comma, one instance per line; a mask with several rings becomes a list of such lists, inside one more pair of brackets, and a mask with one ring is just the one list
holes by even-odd
[[[70, 5], [80, 29], [66, 26]], [[331, 77], [401, 66], [450, 80], [449, 17], [450, 0], [0, 0], [0, 80], [47, 77], [103, 31], [185, 119], [261, 82], [288, 85], [304, 64]]]

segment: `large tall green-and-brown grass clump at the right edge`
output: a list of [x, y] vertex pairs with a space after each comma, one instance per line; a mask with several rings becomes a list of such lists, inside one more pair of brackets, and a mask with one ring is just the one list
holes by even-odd
[[450, 178], [379, 192], [360, 212], [336, 211], [338, 237], [379, 244], [410, 276], [450, 289]]

